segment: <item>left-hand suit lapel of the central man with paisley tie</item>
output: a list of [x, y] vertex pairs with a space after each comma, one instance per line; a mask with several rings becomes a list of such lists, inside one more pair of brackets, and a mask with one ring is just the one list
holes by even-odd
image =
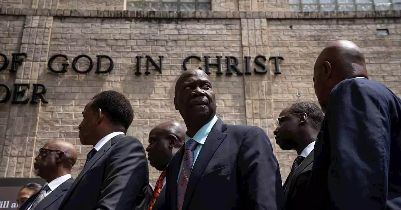
[[[178, 180], [178, 173], [180, 172], [180, 166], [181, 166], [181, 161], [182, 161], [182, 156], [184, 156], [184, 146], [185, 144], [181, 147], [180, 150], [176, 153], [174, 156], [171, 166], [172, 166], [172, 177], [170, 178], [171, 182], [169, 184], [170, 187], [170, 192], [171, 192], [171, 209], [176, 209], [177, 208], [177, 180]], [[166, 183], [167, 184], [167, 183]]]

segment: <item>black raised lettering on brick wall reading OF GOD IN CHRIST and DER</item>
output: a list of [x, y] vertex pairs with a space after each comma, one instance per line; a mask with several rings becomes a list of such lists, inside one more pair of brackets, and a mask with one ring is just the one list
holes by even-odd
[[[0, 53], [0, 57], [2, 57], [3, 62], [0, 63], [0, 72], [5, 70], [8, 67], [8, 64], [10, 63], [7, 56]], [[26, 53], [13, 53], [12, 54], [12, 60], [11, 60], [11, 68], [10, 68], [10, 72], [11, 73], [16, 73], [17, 72], [17, 68], [18, 66], [22, 65], [22, 62], [24, 61], [24, 58], [27, 57]], [[96, 70], [95, 70], [95, 74], [106, 74], [111, 72], [111, 70], [113, 70], [114, 68], [114, 62], [113, 59], [110, 58], [107, 55], [97, 55], [97, 62], [96, 62]], [[149, 75], [150, 74], [150, 64], [152, 64], [152, 66], [154, 66], [154, 68], [156, 69], [157, 72], [159, 72], [159, 74], [162, 74], [162, 64], [163, 64], [163, 56], [159, 56], [159, 62], [156, 62], [152, 57], [150, 56], [136, 56], [136, 69], [135, 69], [135, 74], [136, 75], [141, 75], [142, 74], [142, 70], [141, 70], [141, 61], [142, 58], [146, 59], [146, 71], [144, 72], [144, 74]], [[263, 55], [258, 55], [255, 57], [255, 59], [253, 60], [255, 67], [253, 68], [253, 70], [251, 71], [251, 57], [250, 56], [245, 56], [243, 59], [244, 61], [244, 69], [241, 70], [241, 68], [238, 66], [239, 65], [239, 60], [237, 57], [235, 56], [225, 56], [223, 58], [223, 56], [215, 56], [215, 58], [217, 59], [217, 62], [212, 63], [211, 62], [211, 57], [210, 56], [204, 56], [203, 57], [203, 62], [205, 64], [205, 72], [206, 74], [211, 74], [211, 67], [215, 67], [217, 69], [216, 74], [217, 75], [222, 75], [223, 70], [222, 70], [222, 65], [223, 62], [222, 60], [225, 59], [225, 64], [227, 64], [227, 67], [225, 69], [225, 74], [226, 75], [232, 75], [232, 74], [237, 74], [237, 75], [249, 75], [252, 74], [252, 71], [255, 74], [266, 74], [267, 72], [269, 72], [269, 66], [267, 64], [265, 64], [266, 62], [269, 62], [270, 60], [274, 61], [274, 74], [281, 74], [280, 69], [279, 69], [279, 62], [280, 60], [284, 60], [283, 57], [281, 56], [271, 56], [268, 59], [263, 56]], [[53, 63], [55, 62], [55, 60], [61, 60], [61, 67], [59, 68], [55, 68], [53, 66]], [[82, 59], [82, 60], [81, 60]], [[102, 70], [102, 60], [107, 59], [109, 61], [109, 66], [107, 67], [107, 69]], [[87, 60], [87, 62], [89, 62], [89, 66], [87, 67], [87, 69], [84, 70], [79, 70], [77, 67], [77, 62], [81, 60]], [[202, 62], [202, 58], [200, 56], [195, 56], [195, 55], [191, 55], [186, 57], [183, 62], [182, 62], [182, 68], [184, 71], [188, 70], [187, 68], [187, 63], [190, 60], [197, 60], [198, 62]], [[54, 74], [64, 74], [66, 73], [68, 70], [68, 66], [69, 66], [69, 58], [66, 55], [63, 54], [56, 54], [50, 57], [49, 61], [47, 62], [47, 68], [49, 69], [49, 71], [53, 72]], [[72, 69], [74, 70], [74, 72], [78, 73], [78, 74], [87, 74], [89, 72], [91, 72], [91, 70], [94, 67], [94, 63], [91, 57], [87, 56], [87, 55], [79, 55], [77, 57], [75, 57], [73, 59], [73, 62], [71, 64]], [[201, 66], [199, 66], [199, 68], [201, 68]], [[33, 92], [32, 92], [32, 96], [30, 99], [30, 103], [31, 104], [37, 104], [38, 103], [38, 99], [40, 98], [42, 100], [43, 103], [47, 104], [49, 102], [47, 102], [47, 100], [45, 99], [45, 93], [46, 93], [46, 87], [43, 84], [32, 84], [33, 86]], [[29, 102], [29, 98], [25, 98], [23, 100], [19, 99], [20, 97], [23, 97], [25, 95], [26, 90], [28, 90], [30, 88], [30, 84], [25, 83], [25, 84], [14, 84], [14, 90], [11, 91], [10, 87], [8, 87], [5, 84], [0, 83], [0, 88], [4, 88], [6, 91], [6, 96], [4, 98], [0, 98], [0, 104], [2, 103], [6, 103], [8, 100], [10, 100], [10, 98], [12, 97], [12, 104], [27, 104]]]

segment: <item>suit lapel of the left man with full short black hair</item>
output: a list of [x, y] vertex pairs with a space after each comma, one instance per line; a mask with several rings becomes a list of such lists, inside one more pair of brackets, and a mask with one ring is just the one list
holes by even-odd
[[99, 160], [101, 158], [101, 156], [103, 156], [103, 154], [105, 154], [107, 152], [107, 150], [110, 149], [112, 144], [115, 144], [115, 142], [124, 138], [125, 136], [126, 135], [124, 135], [124, 134], [119, 134], [119, 135], [111, 138], [109, 141], [106, 142], [106, 144], [104, 144], [101, 147], [101, 149], [99, 151], [97, 151], [95, 153], [95, 155], [91, 158], [91, 160], [89, 160], [89, 162], [83, 167], [81, 173], [79, 173], [75, 182], [71, 185], [71, 188], [68, 190], [68, 192], [65, 195], [65, 198], [60, 206], [63, 206], [65, 201], [69, 198], [69, 196], [71, 196], [71, 193], [74, 192], [75, 188], [77, 187], [77, 184], [81, 181], [82, 177], [86, 174], [86, 172], [88, 172], [89, 169], [92, 168], [92, 166], [97, 162], [97, 160]]

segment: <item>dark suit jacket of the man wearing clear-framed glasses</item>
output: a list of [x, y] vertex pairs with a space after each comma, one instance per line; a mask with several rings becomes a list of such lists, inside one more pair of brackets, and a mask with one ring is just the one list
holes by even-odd
[[[306, 194], [306, 186], [310, 178], [313, 166], [314, 150], [302, 161], [300, 167], [291, 178], [287, 177], [284, 183], [284, 200], [286, 210], [300, 209], [306, 202], [310, 202], [310, 197]], [[290, 183], [290, 185], [288, 185]], [[288, 186], [287, 186], [288, 185]]]

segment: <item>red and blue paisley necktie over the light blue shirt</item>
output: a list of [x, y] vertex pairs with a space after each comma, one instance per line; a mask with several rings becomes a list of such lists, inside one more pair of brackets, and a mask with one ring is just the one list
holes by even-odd
[[186, 142], [184, 157], [182, 158], [182, 169], [180, 178], [178, 179], [177, 186], [177, 210], [182, 210], [182, 204], [184, 204], [186, 187], [188, 186], [189, 177], [192, 172], [192, 165], [194, 164], [194, 150], [198, 142], [190, 139]]

